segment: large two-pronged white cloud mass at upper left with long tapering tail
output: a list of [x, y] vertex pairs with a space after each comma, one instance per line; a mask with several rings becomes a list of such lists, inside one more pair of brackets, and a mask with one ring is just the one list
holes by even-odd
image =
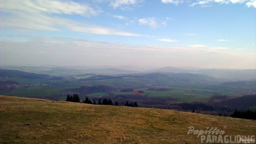
[[[64, 31], [70, 30], [80, 33], [120, 35], [120, 36], [143, 36], [129, 32], [123, 32], [109, 27], [91, 25], [66, 18], [61, 18], [59, 14], [93, 16], [100, 11], [88, 5], [81, 5], [71, 1], [1, 1], [1, 10], [9, 15], [1, 15], [1, 26], [9, 27], [17, 31]], [[50, 4], [50, 5], [49, 5]], [[40, 5], [40, 6], [38, 6]], [[50, 14], [54, 13], [54, 16]], [[119, 17], [121, 18], [121, 17]]]

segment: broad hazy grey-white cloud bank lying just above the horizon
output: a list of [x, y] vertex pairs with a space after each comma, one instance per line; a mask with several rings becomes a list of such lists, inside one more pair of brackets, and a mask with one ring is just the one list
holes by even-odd
[[[83, 39], [43, 36], [27, 37], [29, 41], [0, 41], [0, 60], [8, 65], [159, 65], [173, 61], [180, 66], [193, 67], [252, 67], [255, 53], [241, 54], [227, 47], [164, 47], [132, 46]], [[134, 55], [136, 53], [136, 55]], [[76, 57], [70, 59], [68, 57]], [[138, 55], [140, 57], [138, 57]], [[100, 58], [99, 58], [100, 57]], [[143, 58], [142, 58], [143, 57]], [[243, 61], [241, 61], [243, 59]], [[253, 67], [252, 67], [253, 68]]]

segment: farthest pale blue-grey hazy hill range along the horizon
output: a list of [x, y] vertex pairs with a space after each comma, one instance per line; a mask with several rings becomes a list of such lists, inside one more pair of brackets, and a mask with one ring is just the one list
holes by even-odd
[[145, 67], [135, 66], [66, 66], [66, 67], [24, 67], [24, 66], [2, 66], [0, 69], [19, 70], [29, 73], [72, 76], [93, 73], [96, 75], [142, 75], [148, 73], [191, 73], [208, 75], [225, 81], [248, 81], [256, 80], [256, 69], [199, 69], [196, 67], [162, 67], [144, 70]]

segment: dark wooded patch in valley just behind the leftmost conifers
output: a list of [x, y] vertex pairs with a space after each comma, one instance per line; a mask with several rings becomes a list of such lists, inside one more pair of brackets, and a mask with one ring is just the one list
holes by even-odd
[[91, 94], [91, 93], [96, 93], [96, 92], [110, 92], [113, 91], [114, 89], [110, 86], [81, 86], [79, 88], [74, 88], [71, 91], [73, 92], [80, 92], [83, 94]]

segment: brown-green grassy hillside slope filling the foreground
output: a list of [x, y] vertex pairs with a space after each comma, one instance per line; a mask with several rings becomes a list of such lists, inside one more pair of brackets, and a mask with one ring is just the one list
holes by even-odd
[[0, 96], [0, 143], [200, 143], [187, 134], [190, 126], [229, 136], [256, 132], [247, 119]]

